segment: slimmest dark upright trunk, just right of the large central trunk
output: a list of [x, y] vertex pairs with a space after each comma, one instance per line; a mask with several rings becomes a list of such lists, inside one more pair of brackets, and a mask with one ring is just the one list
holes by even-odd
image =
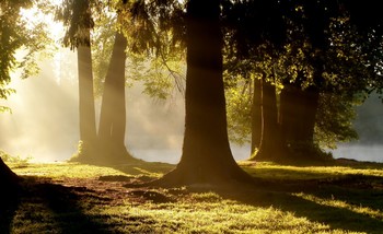
[[251, 156], [255, 150], [258, 150], [262, 137], [262, 81], [254, 79], [253, 81], [253, 102], [252, 102], [252, 142]]

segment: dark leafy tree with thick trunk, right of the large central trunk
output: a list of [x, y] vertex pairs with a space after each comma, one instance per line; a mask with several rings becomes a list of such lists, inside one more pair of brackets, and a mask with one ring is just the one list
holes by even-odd
[[[228, 4], [230, 5], [230, 3]], [[229, 9], [228, 16], [224, 20], [229, 31], [225, 35], [229, 40], [228, 45], [234, 47], [227, 49], [229, 57], [232, 56], [240, 60], [253, 60], [253, 65], [256, 66], [256, 61], [262, 60], [263, 55], [263, 52], [257, 50], [259, 45], [269, 43], [274, 46], [274, 49], [267, 52], [275, 61], [272, 66], [269, 66], [268, 69], [266, 67], [258, 67], [257, 69], [267, 72], [270, 68], [276, 68], [276, 71], [267, 72], [266, 77], [283, 85], [278, 104], [280, 108], [278, 124], [280, 125], [282, 141], [277, 141], [289, 145], [293, 154], [288, 155], [287, 149], [281, 147], [282, 152], [279, 153], [280, 156], [283, 156], [283, 154], [285, 157], [297, 154], [315, 154], [317, 152], [315, 140], [318, 140], [318, 138], [315, 139], [314, 137], [315, 124], [317, 122], [316, 117], [318, 116], [318, 110], [326, 112], [326, 106], [321, 104], [321, 96], [324, 97], [325, 93], [335, 91], [343, 95], [344, 104], [346, 100], [353, 102], [350, 94], [356, 95], [364, 92], [368, 81], [371, 80], [370, 78], [379, 73], [372, 72], [373, 74], [371, 74], [367, 69], [365, 65], [371, 62], [365, 58], [371, 58], [371, 54], [368, 55], [364, 51], [359, 54], [360, 58], [357, 57], [356, 52], [360, 48], [367, 48], [365, 43], [350, 42], [350, 38], [352, 38], [349, 37], [350, 35], [356, 33], [355, 35], [360, 37], [362, 28], [367, 28], [362, 21], [359, 22], [361, 20], [360, 12], [356, 10], [352, 3], [347, 2], [339, 5], [327, 1], [234, 1], [227, 9]], [[370, 26], [379, 22], [379, 19], [376, 19], [378, 12], [372, 11], [372, 13], [374, 21], [370, 22]], [[332, 19], [338, 19], [338, 21], [333, 21]], [[350, 21], [347, 19], [350, 19]], [[352, 31], [351, 27], [345, 27], [347, 22], [358, 25], [359, 30]], [[371, 37], [370, 34], [370, 36], [364, 37], [363, 42], [369, 42], [371, 38], [374, 37]], [[343, 39], [340, 47], [338, 46], [339, 39]], [[347, 39], [348, 45], [346, 43]], [[371, 43], [367, 44], [371, 45]], [[276, 51], [278, 52], [276, 54]], [[345, 54], [339, 56], [335, 51], [346, 51], [348, 56], [345, 56]], [[328, 58], [334, 58], [334, 60]], [[337, 59], [338, 61], [335, 61]], [[239, 63], [242, 63], [242, 61]], [[346, 69], [340, 68], [340, 66], [345, 66], [346, 69], [352, 68], [352, 72], [344, 72]], [[333, 69], [334, 67], [337, 67], [337, 69]], [[376, 67], [379, 66], [375, 66], [375, 69]], [[251, 70], [254, 71], [256, 69]], [[272, 78], [270, 75], [277, 77], [277, 79], [270, 79]], [[361, 77], [363, 79], [360, 79]], [[351, 84], [349, 89], [345, 89], [345, 85], [339, 83], [341, 80]], [[339, 90], [337, 91], [337, 89]], [[266, 90], [264, 89], [264, 91]], [[274, 94], [267, 96], [274, 96]], [[276, 103], [272, 104], [272, 106], [276, 105]], [[263, 112], [267, 110], [266, 106], [270, 105], [263, 104]], [[349, 112], [344, 114], [347, 115], [347, 113]], [[322, 117], [324, 116], [322, 115]], [[269, 121], [270, 119], [264, 120]], [[328, 122], [335, 122], [330, 119], [328, 120]], [[318, 127], [316, 129], [324, 131], [318, 136], [324, 136], [323, 132], [355, 136], [355, 132], [346, 130], [347, 128], [349, 129], [349, 126], [347, 127], [347, 125], [340, 122], [345, 121], [345, 119], [336, 118], [336, 120], [340, 124], [338, 127], [343, 130], [336, 131], [334, 129], [332, 131], [329, 128], [326, 128], [326, 125], [323, 125], [326, 120], [322, 119], [322, 125], [316, 125]], [[263, 127], [266, 126], [263, 125]], [[264, 130], [266, 129], [263, 129], [263, 132]], [[275, 139], [279, 139], [277, 137], [278, 130], [271, 130], [271, 132], [274, 132]], [[271, 141], [274, 141], [275, 147], [270, 149], [276, 150], [278, 148], [276, 145], [280, 143], [277, 143], [275, 140]], [[267, 144], [260, 143], [257, 157], [259, 160], [276, 160], [275, 154], [277, 153], [264, 151], [262, 145]]]

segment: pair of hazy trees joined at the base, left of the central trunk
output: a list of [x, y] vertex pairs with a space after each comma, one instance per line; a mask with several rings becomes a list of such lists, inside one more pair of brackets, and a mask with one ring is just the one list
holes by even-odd
[[[80, 94], [80, 147], [73, 161], [88, 163], [116, 163], [131, 160], [125, 147], [126, 105], [125, 105], [125, 36], [117, 32], [113, 15], [115, 2], [102, 4], [101, 1], [66, 1], [58, 19], [68, 25], [63, 43], [78, 50], [79, 94]], [[92, 15], [92, 10], [95, 11]], [[98, 25], [94, 38], [91, 30], [96, 19]], [[109, 22], [106, 22], [109, 21]], [[104, 27], [104, 28], [103, 28]], [[114, 42], [111, 42], [114, 38]], [[98, 47], [101, 39], [104, 44]], [[96, 47], [91, 49], [91, 44]], [[96, 66], [93, 66], [96, 55]], [[98, 57], [97, 57], [98, 56]], [[100, 58], [100, 57], [103, 58]], [[105, 59], [109, 58], [109, 59]], [[108, 60], [108, 61], [107, 61]], [[95, 68], [96, 72], [93, 72]], [[94, 89], [93, 73], [96, 74]], [[98, 131], [95, 127], [94, 90], [102, 96]]]

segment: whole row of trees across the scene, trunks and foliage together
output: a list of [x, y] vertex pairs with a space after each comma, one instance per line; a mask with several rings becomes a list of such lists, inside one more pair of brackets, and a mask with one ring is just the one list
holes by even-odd
[[[43, 3], [1, 3], [1, 86], [18, 48], [35, 51], [47, 43], [18, 24], [22, 8]], [[186, 54], [182, 157], [158, 185], [251, 182], [230, 150], [228, 119], [236, 140], [251, 136], [251, 160], [323, 159], [321, 143], [356, 137], [352, 104], [382, 90], [382, 17], [372, 0], [63, 0], [56, 10], [67, 28], [63, 45], [78, 54], [81, 143], [73, 160], [135, 161], [124, 143], [127, 55], [166, 67], [166, 59]], [[100, 19], [114, 42], [96, 128], [92, 31]], [[2, 89], [1, 97], [9, 92]], [[1, 184], [14, 185], [2, 161], [0, 172]]]

